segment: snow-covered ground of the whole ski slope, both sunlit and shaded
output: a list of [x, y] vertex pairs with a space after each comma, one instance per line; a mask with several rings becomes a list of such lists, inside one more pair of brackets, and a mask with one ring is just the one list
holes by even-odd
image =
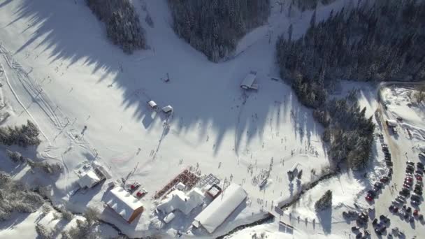
[[[345, 2], [321, 6], [317, 22]], [[10, 161], [2, 169], [29, 183], [52, 184], [55, 203], [75, 212], [94, 206], [103, 211], [103, 219], [127, 235], [145, 236], [164, 233], [150, 225], [155, 191], [192, 166], [202, 174], [217, 175], [222, 182], [242, 184], [248, 193], [247, 205], [215, 231], [214, 236], [219, 236], [263, 217], [277, 198], [290, 198], [301, 184], [314, 180], [312, 169], [320, 172], [329, 165], [320, 138], [322, 127], [312, 119], [311, 110], [298, 103], [288, 85], [271, 79], [278, 76], [276, 39], [289, 24], [294, 25], [293, 37], [301, 36], [310, 23], [310, 12], [294, 10], [288, 17], [286, 11], [281, 14], [280, 7], [274, 7], [268, 25], [247, 34], [234, 57], [214, 64], [173, 33], [165, 0], [145, 4], [154, 22], [153, 28], [142, 22], [150, 49], [124, 55], [106, 39], [103, 24], [83, 0], [0, 0], [0, 64], [4, 71], [0, 81], [7, 106], [3, 111], [10, 113], [3, 124], [31, 119], [41, 129], [43, 143], [24, 154], [60, 162], [65, 170], [59, 178], [46, 178], [32, 175], [28, 168], [17, 170]], [[134, 5], [144, 19], [141, 1]], [[257, 71], [258, 92], [244, 92], [239, 87], [250, 71]], [[166, 83], [167, 74], [171, 80]], [[374, 112], [369, 108], [377, 107], [374, 90], [365, 87], [361, 91], [360, 103], [368, 106], [368, 115]], [[173, 106], [172, 117], [167, 119], [150, 109], [146, 102], [151, 99], [160, 107]], [[377, 171], [370, 173], [369, 180], [377, 179], [383, 170], [380, 145], [374, 147], [381, 159], [373, 162]], [[106, 183], [71, 196], [78, 179], [73, 170], [94, 159], [108, 168], [113, 180], [134, 171], [128, 182], [140, 182], [149, 191], [142, 199], [145, 212], [132, 224], [103, 209]], [[259, 178], [272, 160], [270, 180], [260, 190]], [[296, 163], [303, 169], [303, 178], [290, 184], [286, 172]], [[308, 218], [309, 223], [317, 219], [318, 226], [301, 226], [299, 237], [306, 232], [329, 233], [327, 222], [332, 223], [329, 237], [348, 235], [345, 231], [350, 227], [340, 222], [341, 210], [333, 210], [331, 219], [320, 218], [312, 204], [332, 188], [335, 208], [352, 206], [359, 191], [370, 187], [368, 182], [347, 173], [304, 194], [294, 215]], [[166, 227], [168, 234], [187, 230], [190, 222], [181, 222]], [[267, 226], [266, 230], [272, 230]], [[275, 233], [283, 238], [282, 233]]]

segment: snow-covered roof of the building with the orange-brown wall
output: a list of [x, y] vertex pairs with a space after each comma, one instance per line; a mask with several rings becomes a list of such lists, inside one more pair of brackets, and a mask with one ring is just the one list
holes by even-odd
[[129, 194], [128, 191], [122, 187], [114, 187], [104, 196], [103, 202], [105, 202], [110, 208], [115, 210], [122, 218], [127, 222], [134, 210], [143, 207], [143, 203], [138, 201], [136, 197]]

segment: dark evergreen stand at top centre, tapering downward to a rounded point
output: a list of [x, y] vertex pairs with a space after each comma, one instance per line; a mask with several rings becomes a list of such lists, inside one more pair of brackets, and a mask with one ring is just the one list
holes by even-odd
[[270, 0], [168, 0], [168, 6], [175, 33], [215, 62], [270, 13]]

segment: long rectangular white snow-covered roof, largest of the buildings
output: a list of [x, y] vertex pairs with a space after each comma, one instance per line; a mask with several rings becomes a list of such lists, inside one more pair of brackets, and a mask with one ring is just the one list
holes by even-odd
[[205, 210], [195, 217], [194, 225], [199, 226], [201, 224], [209, 233], [212, 233], [238, 208], [246, 197], [247, 193], [240, 185], [230, 184], [221, 196], [215, 198]]

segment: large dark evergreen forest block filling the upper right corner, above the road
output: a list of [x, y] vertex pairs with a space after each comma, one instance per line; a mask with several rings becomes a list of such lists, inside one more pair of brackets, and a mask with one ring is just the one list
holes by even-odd
[[296, 41], [278, 41], [280, 74], [306, 106], [326, 101], [339, 79], [382, 81], [425, 78], [425, 2], [378, 1], [341, 10], [315, 23]]

